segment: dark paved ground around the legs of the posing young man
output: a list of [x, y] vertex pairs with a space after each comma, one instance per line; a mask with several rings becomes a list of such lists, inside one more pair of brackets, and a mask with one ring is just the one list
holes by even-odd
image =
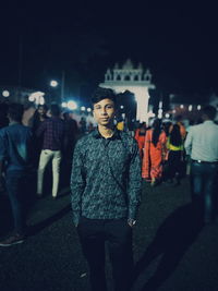
[[[189, 191], [187, 179], [178, 187], [144, 185], [134, 229], [134, 291], [218, 290], [218, 226], [193, 228]], [[5, 198], [0, 202], [3, 235], [10, 208]], [[36, 202], [28, 223], [29, 238], [23, 244], [0, 248], [0, 290], [88, 291], [87, 265], [71, 221], [68, 192], [57, 201], [46, 195]]]

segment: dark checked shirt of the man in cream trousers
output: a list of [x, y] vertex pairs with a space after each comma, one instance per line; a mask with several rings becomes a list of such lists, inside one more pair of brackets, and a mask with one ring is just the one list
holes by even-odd
[[36, 135], [44, 134], [43, 149], [61, 150], [64, 137], [64, 122], [58, 117], [52, 117], [39, 125]]

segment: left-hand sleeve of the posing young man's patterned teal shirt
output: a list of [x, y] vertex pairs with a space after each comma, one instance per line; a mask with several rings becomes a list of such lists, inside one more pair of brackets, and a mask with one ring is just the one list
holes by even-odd
[[81, 146], [81, 141], [78, 141], [73, 154], [71, 172], [71, 205], [73, 210], [73, 222], [76, 227], [81, 217], [82, 195], [85, 189], [85, 171]]

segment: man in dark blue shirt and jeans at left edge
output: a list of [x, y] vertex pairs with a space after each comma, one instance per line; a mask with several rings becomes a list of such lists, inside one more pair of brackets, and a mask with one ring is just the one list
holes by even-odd
[[26, 192], [31, 191], [28, 183], [31, 183], [29, 178], [32, 178], [33, 170], [33, 136], [31, 129], [21, 123], [23, 106], [11, 104], [8, 117], [9, 126], [0, 130], [0, 178], [4, 169], [7, 191], [14, 220], [14, 234], [0, 242], [0, 246], [22, 243], [25, 239], [26, 204], [29, 199], [29, 193]]

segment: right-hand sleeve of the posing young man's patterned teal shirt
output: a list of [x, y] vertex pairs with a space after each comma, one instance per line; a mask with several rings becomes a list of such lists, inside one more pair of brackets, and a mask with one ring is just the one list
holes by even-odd
[[129, 219], [136, 219], [142, 195], [142, 162], [136, 141], [133, 141], [129, 170]]

